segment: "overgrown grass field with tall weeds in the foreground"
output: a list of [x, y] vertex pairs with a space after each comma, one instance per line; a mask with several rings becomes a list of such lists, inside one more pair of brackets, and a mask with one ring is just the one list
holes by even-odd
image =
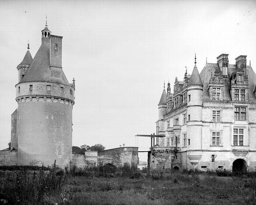
[[[146, 172], [144, 170], [144, 172]], [[220, 175], [220, 174], [217, 174]], [[0, 171], [0, 204], [253, 205], [256, 178], [199, 171], [28, 168]]]

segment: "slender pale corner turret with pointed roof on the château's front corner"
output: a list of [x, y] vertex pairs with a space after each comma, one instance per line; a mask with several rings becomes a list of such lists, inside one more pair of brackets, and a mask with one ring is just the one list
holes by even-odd
[[[202, 152], [202, 109], [203, 84], [195, 66], [187, 84], [187, 139], [190, 142], [187, 157], [191, 165], [197, 166]], [[184, 138], [184, 137], [183, 137]]]

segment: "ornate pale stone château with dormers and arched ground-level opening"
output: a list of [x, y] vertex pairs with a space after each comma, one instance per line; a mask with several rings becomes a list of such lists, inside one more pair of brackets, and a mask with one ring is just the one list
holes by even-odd
[[228, 54], [170, 83], [158, 104], [150, 168], [256, 170], [256, 74]]

